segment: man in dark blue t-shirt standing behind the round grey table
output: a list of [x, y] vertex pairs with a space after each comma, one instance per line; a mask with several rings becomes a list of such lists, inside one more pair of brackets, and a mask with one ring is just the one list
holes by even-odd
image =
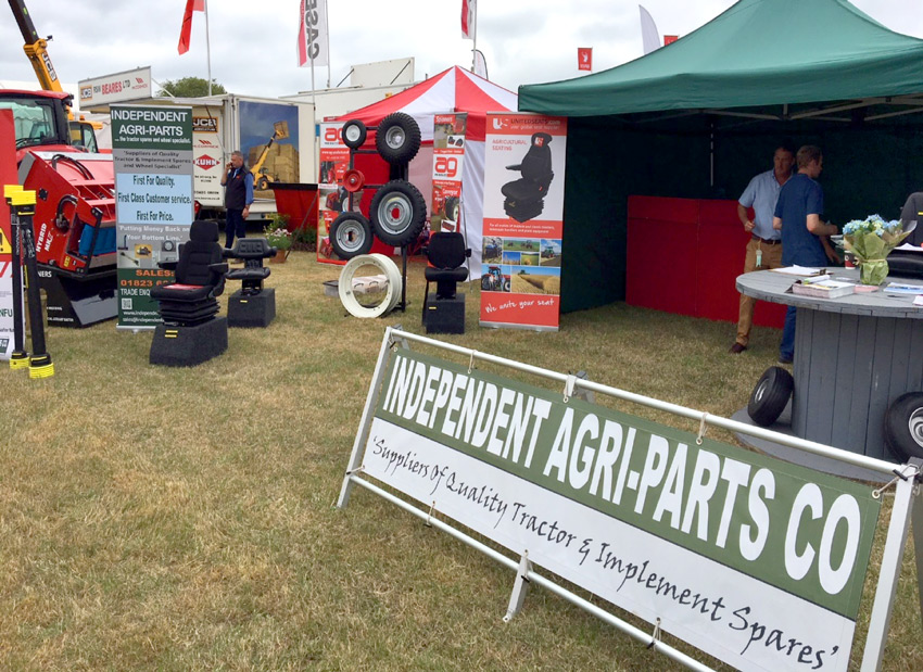
[[[824, 238], [835, 236], [838, 229], [821, 221], [824, 194], [815, 180], [823, 170], [823, 154], [819, 147], [806, 144], [798, 150], [796, 160], [798, 174], [779, 192], [772, 226], [782, 231], [783, 266], [822, 267], [827, 259], [838, 261]], [[779, 345], [780, 364], [792, 364], [795, 357], [795, 307], [788, 306]]]

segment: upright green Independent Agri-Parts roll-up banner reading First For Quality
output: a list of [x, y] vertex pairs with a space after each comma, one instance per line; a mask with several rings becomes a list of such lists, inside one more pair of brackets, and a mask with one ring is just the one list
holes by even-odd
[[151, 289], [172, 282], [192, 224], [192, 109], [113, 105], [118, 329], [161, 321]]

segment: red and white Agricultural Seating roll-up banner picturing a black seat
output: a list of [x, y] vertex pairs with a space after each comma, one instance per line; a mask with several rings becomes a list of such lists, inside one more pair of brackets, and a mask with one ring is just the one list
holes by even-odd
[[481, 319], [557, 331], [567, 119], [488, 115]]

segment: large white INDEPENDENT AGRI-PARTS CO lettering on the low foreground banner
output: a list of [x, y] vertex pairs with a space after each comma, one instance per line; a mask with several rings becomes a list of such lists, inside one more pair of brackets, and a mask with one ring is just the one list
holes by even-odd
[[[536, 483], [544, 477], [560, 484], [560, 489], [549, 485], [558, 493], [589, 496], [592, 499], [579, 500], [598, 505], [600, 511], [619, 517], [630, 512], [636, 518], [629, 520], [648, 533], [699, 551], [705, 543], [706, 555], [724, 558], [725, 563], [731, 560], [738, 570], [753, 566], [755, 575], [760, 575], [767, 573], [767, 563], [779, 562], [785, 576], [779, 578], [775, 570], [768, 575], [781, 580], [777, 586], [783, 589], [796, 589], [794, 582], [813, 581], [827, 595], [839, 595], [859, 561], [862, 512], [854, 495], [831, 490], [824, 500], [819, 485], [800, 482], [797, 491], [788, 485], [791, 499], [776, 503], [776, 474], [771, 469], [705, 446], [690, 451], [655, 431], [638, 440], [635, 428], [586, 413], [586, 407], [581, 415], [573, 405], [559, 409], [549, 428], [553, 404], [546, 398], [399, 357], [380, 408], [410, 423], [407, 429], [417, 427], [419, 433], [430, 431], [431, 439], [472, 455], [504, 460], [514, 472], [533, 469]], [[643, 458], [632, 462], [635, 449], [643, 451]], [[768, 544], [773, 503], [779, 543]], [[823, 595], [813, 598], [824, 604]]]

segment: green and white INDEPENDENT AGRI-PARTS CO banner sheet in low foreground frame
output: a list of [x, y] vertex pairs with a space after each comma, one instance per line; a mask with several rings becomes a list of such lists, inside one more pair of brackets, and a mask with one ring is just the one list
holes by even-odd
[[868, 486], [400, 348], [362, 461], [738, 669], [847, 669]]

